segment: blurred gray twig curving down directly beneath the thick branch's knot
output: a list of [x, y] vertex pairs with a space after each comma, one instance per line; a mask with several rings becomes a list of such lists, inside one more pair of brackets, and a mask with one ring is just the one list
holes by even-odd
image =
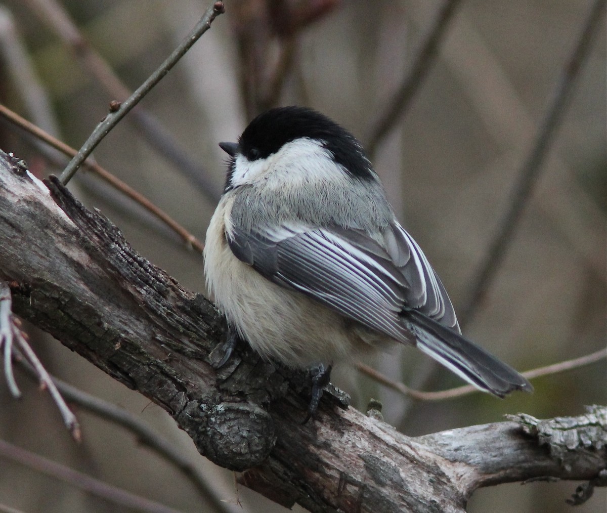
[[[34, 371], [28, 365], [23, 365], [23, 367], [30, 375], [33, 375]], [[155, 433], [146, 423], [132, 413], [127, 412], [127, 410], [83, 392], [83, 390], [77, 389], [61, 381], [61, 379], [55, 378], [55, 376], [52, 379], [57, 389], [67, 401], [77, 404], [82, 409], [129, 430], [137, 437], [141, 444], [154, 450], [169, 463], [177, 467], [194, 484], [200, 495], [214, 506], [214, 511], [228, 513], [229, 510], [226, 508], [225, 503], [222, 502], [214, 489], [209, 486], [205, 476], [200, 474], [195, 465], [175, 449], [173, 443]]]

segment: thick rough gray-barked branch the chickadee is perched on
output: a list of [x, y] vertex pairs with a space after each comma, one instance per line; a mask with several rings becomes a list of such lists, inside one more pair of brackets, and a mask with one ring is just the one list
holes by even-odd
[[[222, 319], [135, 253], [56, 180], [0, 153], [0, 279], [15, 312], [163, 407], [215, 463], [311, 511], [464, 511], [480, 486], [541, 477], [604, 482], [605, 409], [561, 421], [554, 449], [532, 417], [409, 438], [325, 393], [301, 424], [307, 379], [246, 348], [219, 372]], [[543, 434], [540, 434], [543, 433]], [[603, 481], [601, 476], [603, 475]]]

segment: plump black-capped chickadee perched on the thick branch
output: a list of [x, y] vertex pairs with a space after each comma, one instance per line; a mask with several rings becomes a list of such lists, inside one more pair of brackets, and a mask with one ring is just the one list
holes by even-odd
[[220, 146], [230, 159], [206, 233], [206, 281], [231, 330], [260, 355], [307, 367], [398, 341], [484, 392], [532, 390], [461, 335], [353, 135], [314, 110], [280, 107]]

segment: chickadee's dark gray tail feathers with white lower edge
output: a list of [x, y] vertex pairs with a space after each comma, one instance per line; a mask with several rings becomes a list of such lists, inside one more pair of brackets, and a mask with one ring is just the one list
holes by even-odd
[[417, 347], [476, 388], [498, 397], [514, 390], [533, 391], [531, 383], [516, 370], [456, 331], [415, 310], [407, 311], [405, 316]]

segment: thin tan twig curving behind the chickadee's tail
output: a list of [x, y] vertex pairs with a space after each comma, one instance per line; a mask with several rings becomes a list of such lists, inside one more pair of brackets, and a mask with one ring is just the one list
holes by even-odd
[[[527, 370], [527, 372], [523, 372], [522, 374], [527, 379], [534, 379], [540, 376], [548, 376], [565, 372], [566, 370], [578, 369], [579, 367], [598, 362], [605, 358], [607, 358], [607, 350], [601, 349], [597, 352], [591, 353], [590, 355], [580, 356], [580, 358], [566, 360], [553, 365], [546, 365], [546, 367], [539, 367], [538, 369]], [[381, 372], [378, 372], [372, 367], [362, 364], [361, 362], [356, 364], [356, 369], [382, 385], [388, 387], [389, 389], [400, 392], [402, 395], [412, 399], [418, 399], [419, 401], [444, 401], [444, 399], [453, 399], [456, 397], [469, 395], [470, 393], [480, 392], [480, 390], [472, 385], [464, 385], [462, 387], [455, 387], [453, 389], [440, 390], [439, 392], [422, 392], [421, 390], [410, 389], [404, 383], [393, 381], [392, 379], [383, 375]]]

